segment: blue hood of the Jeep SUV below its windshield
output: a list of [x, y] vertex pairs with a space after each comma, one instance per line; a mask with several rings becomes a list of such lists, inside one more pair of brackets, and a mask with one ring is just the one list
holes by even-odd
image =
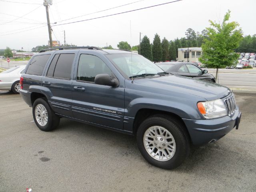
[[161, 76], [159, 78], [144, 78], [136, 80], [136, 83], [149, 86], [154, 92], [180, 92], [180, 94], [195, 95], [206, 100], [223, 98], [230, 94], [228, 87], [213, 82], [197, 80], [183, 76]]

